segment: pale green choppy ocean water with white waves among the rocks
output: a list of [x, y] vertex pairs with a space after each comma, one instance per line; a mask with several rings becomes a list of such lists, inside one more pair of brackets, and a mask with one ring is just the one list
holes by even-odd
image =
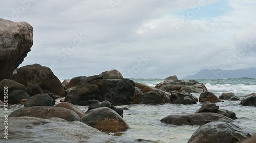
[[[154, 87], [163, 79], [132, 79], [134, 81], [145, 83]], [[186, 80], [186, 79], [184, 79]], [[196, 79], [198, 82], [205, 84], [209, 92], [220, 96], [224, 92], [233, 92], [238, 97], [256, 93], [256, 79], [252, 78], [234, 78], [234, 79]], [[63, 80], [60, 80], [63, 81]], [[193, 94], [199, 98], [200, 94]], [[241, 106], [240, 101], [223, 100], [224, 102], [216, 103], [220, 109], [228, 109], [236, 113], [237, 120], [233, 124], [256, 133], [256, 107]], [[59, 100], [57, 100], [57, 103]], [[152, 140], [155, 142], [187, 142], [190, 136], [199, 128], [193, 126], [166, 125], [160, 120], [168, 115], [181, 115], [194, 113], [201, 107], [202, 103], [197, 102], [195, 105], [123, 105], [117, 107], [127, 107], [124, 110], [123, 119], [131, 126], [131, 129], [120, 132], [108, 132], [115, 136], [117, 142], [135, 142], [137, 139]], [[23, 105], [13, 105], [10, 110], [15, 110]], [[77, 106], [84, 112], [88, 106]], [[0, 113], [1, 114], [1, 113]], [[2, 116], [2, 115], [1, 115]]]

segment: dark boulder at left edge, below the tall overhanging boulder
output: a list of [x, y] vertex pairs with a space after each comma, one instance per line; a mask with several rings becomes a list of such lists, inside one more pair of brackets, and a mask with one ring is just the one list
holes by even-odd
[[[5, 90], [5, 87], [8, 87]], [[0, 81], [0, 100], [4, 101], [4, 93], [8, 94], [8, 104], [19, 104], [22, 99], [30, 98], [26, 87], [16, 81], [4, 79]]]

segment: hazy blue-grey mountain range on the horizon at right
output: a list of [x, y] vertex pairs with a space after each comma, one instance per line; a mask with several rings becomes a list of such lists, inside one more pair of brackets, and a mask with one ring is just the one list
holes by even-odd
[[256, 68], [238, 70], [201, 70], [195, 75], [188, 75], [182, 79], [212, 79], [212, 78], [256, 78]]

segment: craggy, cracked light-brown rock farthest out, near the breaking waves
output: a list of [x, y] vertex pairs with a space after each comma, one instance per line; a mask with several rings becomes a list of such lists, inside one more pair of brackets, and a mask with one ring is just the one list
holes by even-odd
[[185, 93], [202, 93], [207, 92], [203, 83], [199, 83], [195, 80], [165, 80], [156, 85], [157, 89], [166, 92], [185, 92]]

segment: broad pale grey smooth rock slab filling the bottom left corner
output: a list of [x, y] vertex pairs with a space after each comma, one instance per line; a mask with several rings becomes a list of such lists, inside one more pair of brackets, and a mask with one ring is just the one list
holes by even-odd
[[[0, 139], [3, 140], [0, 142], [116, 142], [113, 136], [79, 121], [67, 122], [59, 118], [34, 117], [9, 117], [8, 119], [8, 139]], [[2, 123], [4, 120], [0, 118]], [[4, 129], [4, 126], [0, 124], [1, 129]]]

